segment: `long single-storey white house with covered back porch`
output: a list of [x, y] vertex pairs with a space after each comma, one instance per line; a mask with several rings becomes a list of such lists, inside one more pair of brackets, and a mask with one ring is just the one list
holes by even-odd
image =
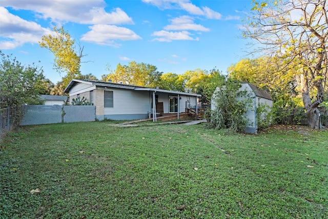
[[98, 120], [140, 120], [165, 114], [197, 111], [199, 94], [185, 93], [111, 82], [73, 79], [64, 92], [73, 98], [84, 96], [96, 106]]

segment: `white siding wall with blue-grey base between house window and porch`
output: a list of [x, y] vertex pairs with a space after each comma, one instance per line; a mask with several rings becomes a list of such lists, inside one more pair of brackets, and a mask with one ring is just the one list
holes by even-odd
[[[104, 117], [111, 120], [148, 118], [151, 112], [149, 91], [108, 88], [113, 91], [113, 108], [104, 108]], [[104, 100], [103, 100], [104, 102]]]

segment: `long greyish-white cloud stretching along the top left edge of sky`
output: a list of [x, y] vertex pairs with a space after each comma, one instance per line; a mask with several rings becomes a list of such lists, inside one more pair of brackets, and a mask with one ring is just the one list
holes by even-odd
[[56, 23], [75, 22], [79, 24], [133, 24], [129, 17], [120, 8], [106, 12], [103, 0], [52, 0], [52, 1], [12, 1], [1, 0], [0, 6], [13, 9], [30, 10], [44, 19], [50, 18]]

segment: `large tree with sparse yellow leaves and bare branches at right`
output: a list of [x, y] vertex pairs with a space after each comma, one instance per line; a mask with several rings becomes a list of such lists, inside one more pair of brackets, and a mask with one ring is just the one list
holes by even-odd
[[244, 37], [261, 47], [255, 52], [276, 59], [280, 77], [293, 75], [300, 88], [311, 128], [320, 129], [317, 107], [327, 78], [328, 5], [325, 0], [267, 0], [254, 7]]

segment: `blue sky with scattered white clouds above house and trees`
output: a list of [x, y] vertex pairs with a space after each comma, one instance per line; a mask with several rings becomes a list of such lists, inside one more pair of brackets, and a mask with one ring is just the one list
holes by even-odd
[[[0, 50], [24, 65], [42, 66], [53, 83], [53, 54], [43, 35], [63, 26], [84, 46], [81, 73], [98, 79], [109, 64], [151, 64], [163, 73], [227, 72], [246, 54], [242, 19], [251, 0], [1, 0]], [[40, 63], [38, 63], [40, 61]]]

